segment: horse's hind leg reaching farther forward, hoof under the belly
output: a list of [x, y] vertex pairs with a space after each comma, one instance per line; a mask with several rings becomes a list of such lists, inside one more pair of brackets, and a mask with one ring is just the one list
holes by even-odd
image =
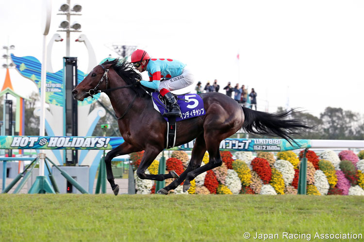
[[195, 145], [192, 150], [191, 160], [187, 168], [180, 175], [180, 178], [172, 181], [168, 186], [157, 191], [157, 194], [167, 195], [169, 190], [176, 189], [184, 179], [186, 179], [188, 172], [201, 166], [203, 156], [206, 152], [205, 140], [203, 134], [196, 138]]

